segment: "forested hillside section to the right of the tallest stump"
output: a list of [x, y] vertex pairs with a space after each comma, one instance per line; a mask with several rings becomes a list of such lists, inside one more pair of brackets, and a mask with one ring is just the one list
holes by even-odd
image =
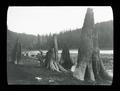
[[113, 21], [97, 23], [95, 29], [99, 33], [99, 47], [113, 49]]

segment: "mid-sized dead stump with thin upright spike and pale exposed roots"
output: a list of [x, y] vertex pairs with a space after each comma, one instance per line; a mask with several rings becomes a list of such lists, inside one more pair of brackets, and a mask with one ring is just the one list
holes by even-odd
[[47, 52], [45, 57], [45, 67], [57, 72], [67, 72], [58, 61], [58, 45], [57, 45], [57, 36], [53, 36], [53, 46]]

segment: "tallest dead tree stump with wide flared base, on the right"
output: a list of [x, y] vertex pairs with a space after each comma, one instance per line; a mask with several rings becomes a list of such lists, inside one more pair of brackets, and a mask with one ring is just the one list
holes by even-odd
[[98, 47], [98, 31], [94, 28], [93, 10], [88, 8], [80, 36], [77, 66], [73, 76], [80, 80], [112, 80], [104, 69]]

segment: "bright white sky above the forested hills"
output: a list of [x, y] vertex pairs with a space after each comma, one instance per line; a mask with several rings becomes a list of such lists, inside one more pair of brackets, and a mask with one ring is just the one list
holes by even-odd
[[46, 35], [82, 28], [87, 8], [92, 8], [95, 23], [113, 20], [110, 6], [10, 6], [8, 29], [18, 33]]

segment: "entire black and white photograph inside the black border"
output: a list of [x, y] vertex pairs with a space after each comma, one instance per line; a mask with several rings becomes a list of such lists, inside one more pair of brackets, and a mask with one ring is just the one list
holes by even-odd
[[9, 6], [8, 85], [113, 82], [111, 6]]

